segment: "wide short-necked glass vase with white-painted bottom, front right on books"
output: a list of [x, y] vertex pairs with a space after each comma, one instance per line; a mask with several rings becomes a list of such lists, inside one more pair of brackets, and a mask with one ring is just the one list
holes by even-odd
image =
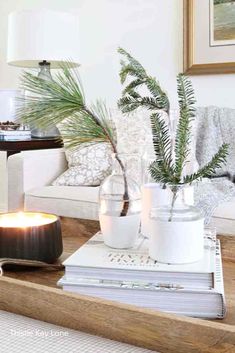
[[170, 185], [167, 204], [150, 212], [149, 255], [163, 263], [184, 264], [200, 260], [204, 249], [204, 218], [187, 204], [185, 186]]

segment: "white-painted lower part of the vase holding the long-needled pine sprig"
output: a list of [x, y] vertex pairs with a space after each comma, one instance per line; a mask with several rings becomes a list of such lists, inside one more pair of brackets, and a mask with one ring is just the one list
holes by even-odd
[[139, 234], [140, 214], [129, 216], [99, 216], [100, 229], [104, 243], [116, 249], [128, 249], [134, 246]]

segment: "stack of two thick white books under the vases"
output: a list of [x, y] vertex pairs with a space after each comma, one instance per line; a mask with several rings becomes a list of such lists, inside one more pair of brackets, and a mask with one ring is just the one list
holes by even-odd
[[225, 315], [220, 242], [210, 231], [197, 263], [158, 263], [142, 236], [132, 249], [111, 249], [97, 233], [64, 265], [58, 285], [66, 291], [193, 317]]

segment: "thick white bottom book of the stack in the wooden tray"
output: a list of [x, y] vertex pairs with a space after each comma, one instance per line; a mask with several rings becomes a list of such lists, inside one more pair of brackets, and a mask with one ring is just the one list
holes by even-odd
[[123, 302], [144, 308], [201, 317], [223, 318], [225, 299], [220, 243], [216, 242], [214, 285], [211, 289], [183, 288], [180, 285], [161, 286], [143, 282], [106, 281], [63, 277], [58, 285], [66, 291]]

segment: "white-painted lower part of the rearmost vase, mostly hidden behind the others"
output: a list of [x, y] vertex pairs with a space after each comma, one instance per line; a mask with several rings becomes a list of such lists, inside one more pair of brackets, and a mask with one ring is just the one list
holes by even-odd
[[[184, 199], [188, 205], [194, 204], [193, 186], [184, 189]], [[148, 183], [142, 186], [141, 190], [141, 233], [150, 237], [150, 211], [154, 207], [168, 205], [172, 199], [170, 189], [163, 189], [161, 184]]]

